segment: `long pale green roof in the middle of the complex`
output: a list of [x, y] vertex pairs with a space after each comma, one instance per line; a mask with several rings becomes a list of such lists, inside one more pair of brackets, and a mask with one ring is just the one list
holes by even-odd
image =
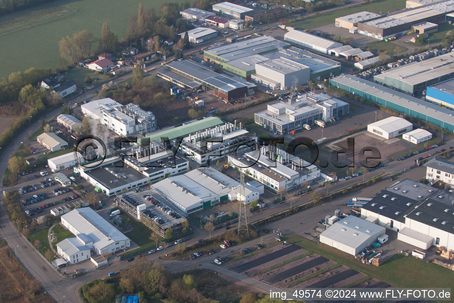
[[173, 139], [183, 138], [199, 130], [207, 129], [220, 124], [224, 124], [221, 119], [217, 117], [209, 117], [189, 124], [178, 126], [173, 129], [166, 129], [160, 132], [155, 132], [144, 138], [140, 138], [138, 143], [145, 144], [146, 138], [150, 138], [150, 142], [153, 140], [161, 142], [161, 137], [168, 137], [169, 141], [172, 141]]

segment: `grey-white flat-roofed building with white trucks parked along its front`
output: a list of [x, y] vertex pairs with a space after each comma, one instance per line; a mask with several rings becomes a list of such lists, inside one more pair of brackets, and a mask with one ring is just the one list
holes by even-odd
[[316, 119], [329, 122], [333, 118], [348, 114], [349, 104], [334, 97], [322, 94], [302, 94], [268, 104], [267, 109], [255, 113], [255, 123], [279, 134], [303, 128], [304, 124], [314, 124]]

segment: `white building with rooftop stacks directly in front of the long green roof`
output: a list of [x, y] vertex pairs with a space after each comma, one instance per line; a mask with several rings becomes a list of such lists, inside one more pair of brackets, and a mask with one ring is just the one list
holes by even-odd
[[242, 129], [241, 123], [238, 130], [236, 125], [226, 123], [199, 131], [193, 136], [189, 134], [183, 138], [178, 151], [201, 166], [213, 166], [229, 154], [254, 148], [256, 143], [257, 137]]

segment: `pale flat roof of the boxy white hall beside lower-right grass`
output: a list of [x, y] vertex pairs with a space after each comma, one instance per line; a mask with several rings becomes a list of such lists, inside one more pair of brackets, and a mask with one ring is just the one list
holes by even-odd
[[383, 226], [373, 224], [355, 216], [348, 216], [331, 225], [320, 236], [330, 238], [352, 248], [357, 248], [370, 237], [378, 238], [378, 235], [385, 233], [385, 231], [386, 228]]

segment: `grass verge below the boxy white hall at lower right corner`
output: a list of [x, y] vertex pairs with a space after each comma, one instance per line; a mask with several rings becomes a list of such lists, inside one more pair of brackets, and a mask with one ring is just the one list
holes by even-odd
[[305, 248], [307, 251], [317, 253], [395, 287], [422, 288], [427, 287], [427, 281], [430, 281], [430, 287], [434, 288], [454, 287], [454, 271], [417, 258], [395, 254], [385, 264], [376, 267], [360, 263], [354, 256], [336, 248], [322, 243], [317, 244], [297, 235], [288, 235], [283, 238], [289, 243]]

